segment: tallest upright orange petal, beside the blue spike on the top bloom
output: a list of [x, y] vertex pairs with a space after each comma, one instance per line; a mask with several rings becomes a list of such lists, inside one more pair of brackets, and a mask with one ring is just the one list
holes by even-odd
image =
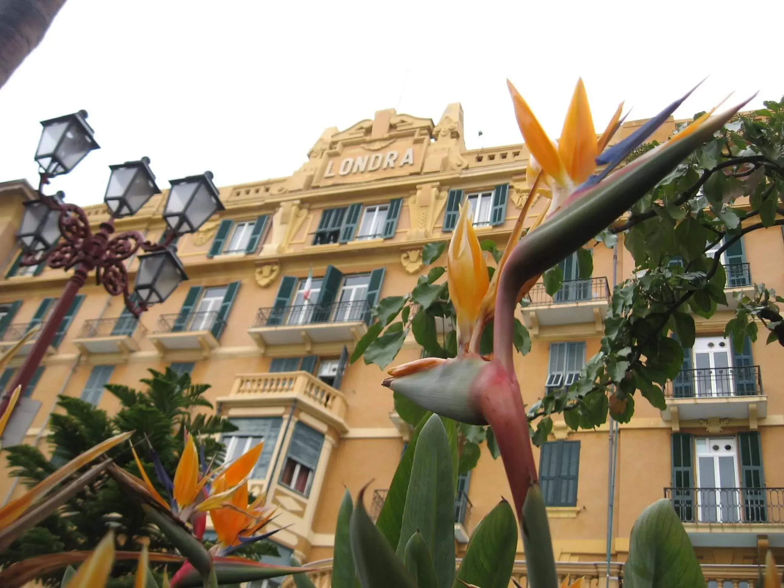
[[566, 112], [564, 128], [561, 129], [558, 155], [572, 182], [580, 184], [596, 169], [597, 154], [596, 130], [593, 129], [588, 95], [583, 78], [579, 78]]

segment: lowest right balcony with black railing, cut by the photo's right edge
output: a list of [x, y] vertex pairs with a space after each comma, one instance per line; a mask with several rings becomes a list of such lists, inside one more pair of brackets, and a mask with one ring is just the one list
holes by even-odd
[[694, 546], [756, 546], [757, 532], [784, 536], [784, 488], [664, 488], [664, 497]]

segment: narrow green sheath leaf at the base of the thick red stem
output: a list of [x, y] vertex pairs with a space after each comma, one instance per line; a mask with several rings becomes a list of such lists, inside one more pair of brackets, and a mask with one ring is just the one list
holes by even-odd
[[528, 567], [528, 585], [532, 588], [557, 588], [558, 576], [555, 573], [550, 523], [547, 521], [547, 508], [538, 485], [529, 488], [528, 494], [525, 495], [522, 535], [525, 564]]

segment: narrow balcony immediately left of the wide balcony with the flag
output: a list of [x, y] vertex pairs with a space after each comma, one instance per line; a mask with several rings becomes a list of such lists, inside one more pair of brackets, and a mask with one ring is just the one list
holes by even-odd
[[169, 351], [201, 350], [206, 358], [219, 345], [213, 332], [220, 336], [225, 325], [226, 321], [219, 320], [217, 310], [162, 314], [147, 338], [162, 357]]

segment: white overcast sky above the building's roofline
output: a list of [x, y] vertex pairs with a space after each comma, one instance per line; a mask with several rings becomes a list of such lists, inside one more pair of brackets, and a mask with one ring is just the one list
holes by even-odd
[[101, 149], [51, 190], [87, 205], [107, 165], [142, 155], [160, 187], [288, 176], [324, 129], [383, 108], [438, 122], [461, 102], [469, 148], [519, 143], [507, 77], [553, 138], [579, 76], [597, 129], [620, 100], [645, 118], [706, 75], [676, 116], [733, 90], [760, 107], [784, 93], [781, 22], [782, 0], [67, 0], [0, 89], [0, 181], [36, 182], [38, 122], [82, 108]]

